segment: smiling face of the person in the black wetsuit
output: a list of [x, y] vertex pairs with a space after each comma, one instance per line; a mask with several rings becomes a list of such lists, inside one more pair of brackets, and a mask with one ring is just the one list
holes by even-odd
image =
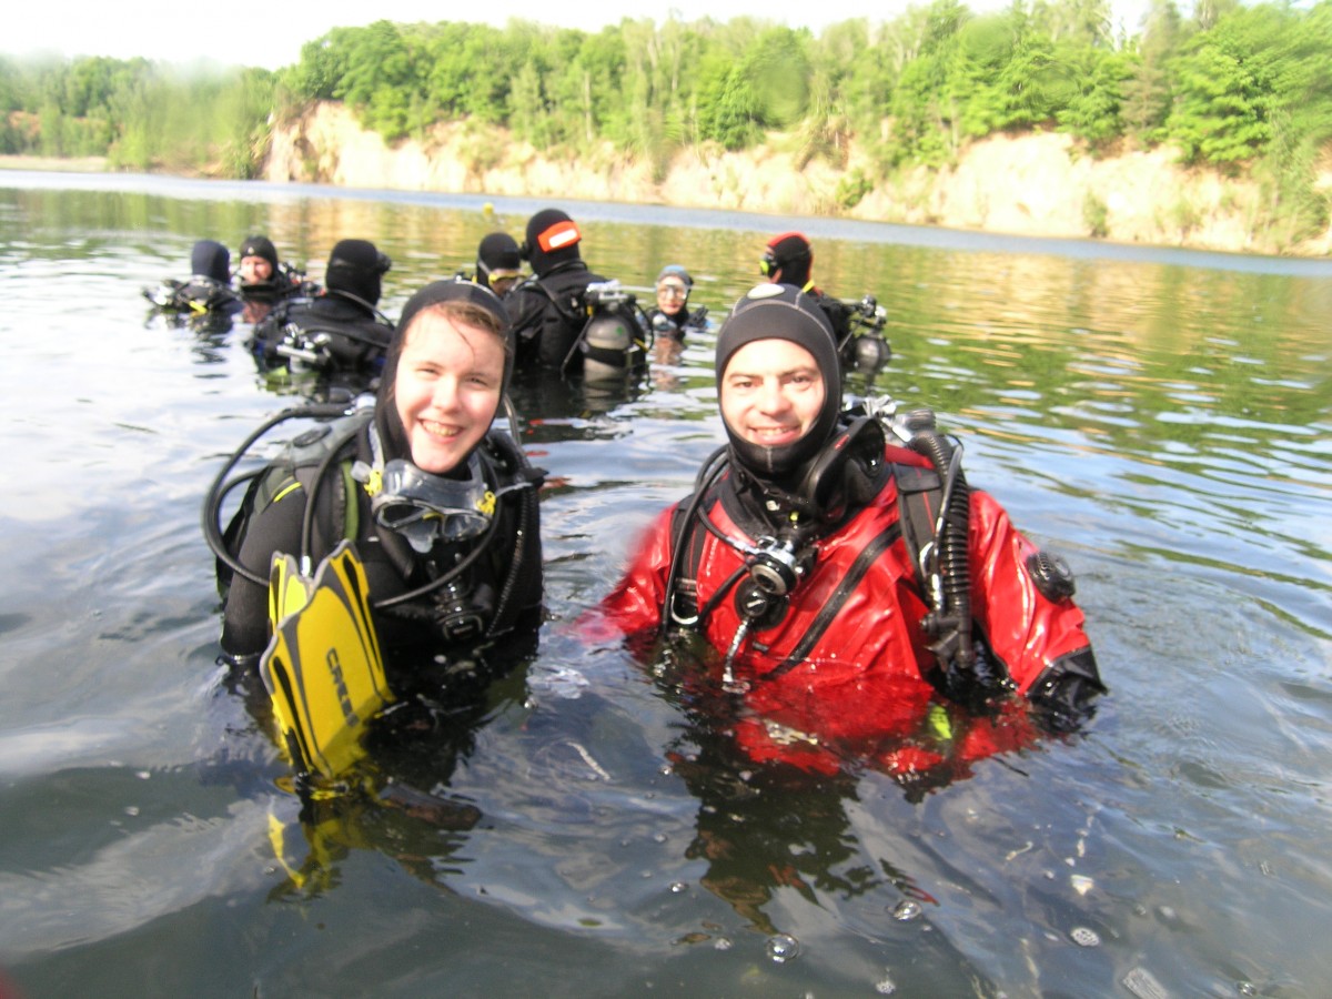
[[422, 312], [406, 332], [393, 382], [412, 464], [444, 474], [462, 462], [500, 409], [503, 341], [494, 333], [436, 312]]

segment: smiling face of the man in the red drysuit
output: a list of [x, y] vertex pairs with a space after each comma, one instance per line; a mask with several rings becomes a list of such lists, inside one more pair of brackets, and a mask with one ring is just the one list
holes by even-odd
[[805, 437], [825, 397], [814, 354], [790, 340], [754, 340], [722, 372], [722, 420], [737, 437], [763, 448]]

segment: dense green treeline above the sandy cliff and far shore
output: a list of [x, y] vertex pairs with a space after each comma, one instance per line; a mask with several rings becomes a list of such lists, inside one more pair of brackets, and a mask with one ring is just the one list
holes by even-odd
[[1112, 29], [1107, 0], [1016, 0], [991, 15], [934, 0], [818, 37], [749, 17], [625, 19], [597, 33], [378, 21], [334, 28], [272, 75], [4, 65], [0, 107], [5, 151], [104, 151], [128, 166], [212, 157], [241, 176], [260, 161], [269, 112], [313, 100], [344, 101], [388, 141], [466, 120], [541, 149], [610, 141], [662, 169], [678, 148], [743, 149], [771, 131], [802, 160], [846, 165], [854, 137], [874, 166], [848, 172], [846, 205], [902, 166], [950, 163], [968, 140], [1059, 129], [1092, 155], [1168, 143], [1191, 164], [1249, 170], [1297, 238], [1327, 222], [1313, 178], [1332, 140], [1328, 65], [1332, 0], [1196, 0], [1187, 17], [1152, 0], [1131, 36]]

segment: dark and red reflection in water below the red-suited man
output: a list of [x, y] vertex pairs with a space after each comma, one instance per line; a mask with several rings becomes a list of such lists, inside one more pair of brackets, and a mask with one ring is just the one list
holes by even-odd
[[698, 799], [697, 831], [686, 856], [702, 859], [701, 883], [765, 934], [791, 930], [770, 903], [783, 888], [811, 904], [848, 902], [884, 888], [934, 902], [888, 858], [870, 858], [847, 815], [862, 775], [888, 777], [907, 802], [920, 802], [992, 757], [1015, 757], [1038, 742], [1023, 705], [979, 714], [930, 697], [903, 702], [863, 691], [856, 713], [872, 733], [840, 735], [826, 705], [765, 710], [761, 699], [721, 681], [714, 651], [675, 641], [639, 647], [658, 690], [683, 718], [666, 747], [671, 771]]

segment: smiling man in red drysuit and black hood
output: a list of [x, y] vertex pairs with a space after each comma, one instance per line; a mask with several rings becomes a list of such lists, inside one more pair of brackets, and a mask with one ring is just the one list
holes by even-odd
[[1091, 714], [1104, 687], [1067, 566], [967, 486], [928, 410], [900, 428], [843, 413], [815, 300], [751, 289], [715, 366], [727, 444], [657, 518], [591, 637], [699, 633], [754, 719], [746, 749], [811, 769], [922, 723], [936, 694], [1002, 713], [1016, 693], [1051, 730]]

